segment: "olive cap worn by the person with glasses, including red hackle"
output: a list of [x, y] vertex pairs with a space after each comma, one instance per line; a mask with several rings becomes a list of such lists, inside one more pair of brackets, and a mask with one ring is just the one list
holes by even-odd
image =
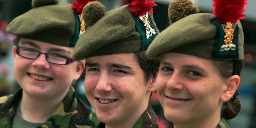
[[6, 32], [18, 37], [74, 47], [85, 27], [79, 15], [88, 2], [76, 0], [77, 4], [68, 4], [59, 1], [32, 0], [34, 8], [12, 20]]

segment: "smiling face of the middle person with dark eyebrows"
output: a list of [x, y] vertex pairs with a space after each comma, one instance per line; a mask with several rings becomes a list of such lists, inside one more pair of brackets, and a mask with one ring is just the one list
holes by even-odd
[[85, 65], [85, 93], [99, 120], [117, 127], [137, 121], [152, 91], [148, 91], [150, 82], [146, 84], [135, 54], [90, 57]]

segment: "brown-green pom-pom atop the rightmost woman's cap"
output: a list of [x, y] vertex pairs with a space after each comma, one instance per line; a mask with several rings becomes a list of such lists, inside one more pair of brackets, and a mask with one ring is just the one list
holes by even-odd
[[198, 12], [198, 6], [194, 5], [191, 0], [173, 0], [169, 5], [168, 16], [172, 24], [183, 17]]

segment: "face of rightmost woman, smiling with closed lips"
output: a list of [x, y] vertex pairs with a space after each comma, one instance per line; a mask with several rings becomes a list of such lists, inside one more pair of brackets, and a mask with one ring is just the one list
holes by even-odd
[[161, 57], [156, 90], [164, 116], [173, 123], [220, 116], [224, 85], [212, 60], [180, 53]]

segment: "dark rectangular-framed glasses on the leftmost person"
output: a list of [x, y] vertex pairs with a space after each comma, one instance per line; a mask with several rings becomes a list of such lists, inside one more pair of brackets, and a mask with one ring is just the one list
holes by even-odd
[[72, 58], [68, 58], [60, 54], [43, 53], [31, 48], [19, 47], [19, 45], [17, 45], [16, 54], [24, 58], [33, 59], [33, 60], [36, 60], [40, 56], [40, 54], [44, 54], [47, 62], [53, 63], [53, 64], [59, 64], [59, 65], [67, 65], [75, 62], [75, 60], [73, 60]]

